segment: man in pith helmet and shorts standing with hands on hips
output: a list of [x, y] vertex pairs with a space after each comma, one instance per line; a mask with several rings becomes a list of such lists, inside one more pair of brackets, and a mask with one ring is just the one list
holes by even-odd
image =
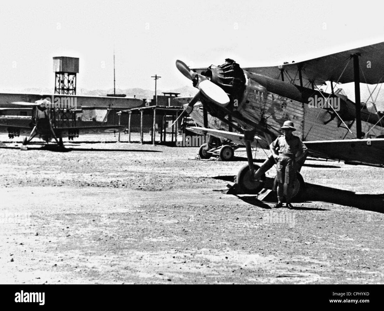
[[274, 208], [283, 207], [284, 187], [286, 187], [286, 207], [293, 208], [291, 205], [291, 197], [293, 192], [293, 184], [296, 179], [296, 162], [300, 160], [306, 153], [307, 147], [303, 144], [300, 137], [294, 136], [296, 131], [293, 122], [285, 121], [281, 130], [284, 135], [276, 138], [270, 144], [270, 149], [274, 159], [277, 161], [277, 199], [278, 203]]

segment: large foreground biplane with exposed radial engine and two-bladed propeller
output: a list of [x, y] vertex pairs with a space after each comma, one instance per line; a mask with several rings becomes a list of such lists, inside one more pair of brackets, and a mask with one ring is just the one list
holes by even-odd
[[[269, 156], [261, 166], [255, 165], [252, 147], [268, 148], [288, 120], [294, 122], [295, 135], [300, 136], [313, 157], [384, 166], [384, 114], [376, 110], [374, 90], [369, 90], [365, 102], [360, 99], [360, 83], [376, 84], [377, 88], [384, 82], [384, 42], [280, 66], [240, 68], [231, 59], [208, 68], [190, 69], [179, 60], [176, 66], [199, 89], [185, 111], [190, 113], [200, 101], [207, 113], [238, 133], [188, 129], [246, 147], [248, 164], [239, 170], [236, 179], [243, 193], [260, 191], [265, 172], [275, 164]], [[326, 82], [330, 83], [330, 93], [319, 88]], [[354, 102], [337, 89], [339, 84], [351, 82]], [[321, 99], [322, 104], [319, 101], [314, 105], [314, 99]], [[304, 185], [300, 175], [304, 161], [298, 165], [294, 196]]]

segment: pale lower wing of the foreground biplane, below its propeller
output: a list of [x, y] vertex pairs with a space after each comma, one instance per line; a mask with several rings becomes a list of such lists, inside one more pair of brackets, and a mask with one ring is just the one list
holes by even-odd
[[[227, 132], [227, 131], [220, 131], [216, 129], [207, 129], [205, 127], [187, 127], [187, 130], [194, 132], [199, 135], [212, 135], [214, 137], [218, 137], [220, 139], [223, 139], [227, 142], [232, 142], [233, 144], [245, 146], [244, 142], [244, 135], [233, 133], [233, 132]], [[262, 137], [255, 136], [255, 140], [251, 142], [252, 147], [262, 147], [262, 148], [269, 148], [268, 143], [263, 139]]]

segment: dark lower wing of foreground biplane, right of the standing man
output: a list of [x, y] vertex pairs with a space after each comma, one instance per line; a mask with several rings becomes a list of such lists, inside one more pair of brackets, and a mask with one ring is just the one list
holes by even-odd
[[384, 138], [306, 141], [311, 155], [343, 160], [346, 164], [384, 166]]

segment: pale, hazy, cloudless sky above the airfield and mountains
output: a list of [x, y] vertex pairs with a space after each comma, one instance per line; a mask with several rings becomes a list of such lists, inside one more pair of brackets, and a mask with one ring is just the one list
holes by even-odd
[[53, 56], [80, 58], [78, 88], [113, 88], [113, 50], [117, 88], [154, 89], [158, 74], [169, 90], [190, 85], [177, 59], [279, 65], [384, 41], [383, 28], [368, 1], [8, 1], [0, 91], [53, 91]]

